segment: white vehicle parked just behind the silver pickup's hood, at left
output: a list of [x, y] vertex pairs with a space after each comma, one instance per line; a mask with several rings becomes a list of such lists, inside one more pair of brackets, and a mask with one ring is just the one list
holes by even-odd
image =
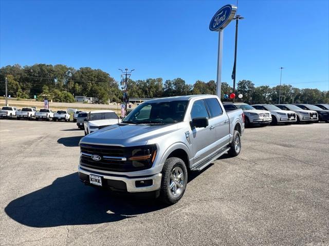
[[95, 132], [107, 126], [121, 122], [119, 116], [112, 110], [90, 111], [84, 121], [84, 135]]

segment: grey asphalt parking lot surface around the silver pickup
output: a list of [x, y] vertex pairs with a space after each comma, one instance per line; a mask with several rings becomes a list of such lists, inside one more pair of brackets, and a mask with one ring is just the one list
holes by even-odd
[[0, 120], [1, 245], [328, 245], [329, 124], [248, 128], [184, 197], [109, 195], [78, 178], [72, 122]]

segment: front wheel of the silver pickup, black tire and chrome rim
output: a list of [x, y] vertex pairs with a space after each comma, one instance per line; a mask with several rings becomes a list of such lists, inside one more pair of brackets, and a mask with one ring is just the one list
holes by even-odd
[[[176, 172], [177, 170], [180, 171], [178, 175]], [[181, 177], [183, 179], [181, 180], [180, 177], [178, 181], [173, 180], [172, 177], [175, 176], [173, 172], [176, 173], [176, 177], [178, 177], [182, 173]], [[162, 168], [160, 199], [167, 204], [174, 204], [179, 201], [186, 190], [187, 179], [187, 168], [184, 161], [177, 157], [168, 158]], [[174, 183], [174, 186], [172, 188], [170, 188], [171, 183]], [[174, 187], [176, 187], [176, 191], [174, 191]], [[175, 195], [174, 193], [177, 194]]]

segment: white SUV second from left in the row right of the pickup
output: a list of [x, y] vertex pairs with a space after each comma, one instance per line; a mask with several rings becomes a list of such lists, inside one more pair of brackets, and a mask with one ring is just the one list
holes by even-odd
[[296, 113], [290, 110], [282, 110], [271, 104], [255, 104], [251, 106], [258, 110], [269, 111], [272, 115], [273, 125], [277, 125], [278, 123], [291, 124], [297, 121]]

